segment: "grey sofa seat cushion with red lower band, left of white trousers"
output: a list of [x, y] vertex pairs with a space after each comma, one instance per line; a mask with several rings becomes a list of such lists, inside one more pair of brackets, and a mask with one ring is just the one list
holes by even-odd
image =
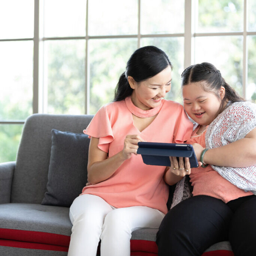
[[40, 204], [1, 204], [0, 238], [68, 246], [69, 208]]

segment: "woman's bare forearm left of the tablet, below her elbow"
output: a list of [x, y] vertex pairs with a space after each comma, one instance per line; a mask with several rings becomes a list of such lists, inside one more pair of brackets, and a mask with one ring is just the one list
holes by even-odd
[[107, 180], [125, 161], [122, 152], [115, 154], [105, 160], [95, 162], [88, 168], [88, 181], [96, 184]]

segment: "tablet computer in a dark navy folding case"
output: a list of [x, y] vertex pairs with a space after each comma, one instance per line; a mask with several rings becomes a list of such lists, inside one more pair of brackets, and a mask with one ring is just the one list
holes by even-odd
[[139, 142], [137, 154], [141, 154], [147, 165], [171, 166], [169, 156], [189, 157], [190, 167], [198, 167], [195, 151], [191, 144]]

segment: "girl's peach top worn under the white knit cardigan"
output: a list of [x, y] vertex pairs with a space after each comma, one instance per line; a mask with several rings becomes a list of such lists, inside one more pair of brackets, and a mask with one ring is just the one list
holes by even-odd
[[[205, 148], [206, 129], [201, 135], [197, 135], [196, 132], [199, 127], [200, 126], [195, 129], [192, 137], [187, 140], [187, 143], [198, 143]], [[242, 196], [253, 195], [252, 192], [244, 192], [244, 190], [239, 189], [237, 186], [223, 178], [218, 172], [211, 168], [211, 165], [208, 165], [206, 168], [192, 168], [189, 177], [193, 186], [193, 196], [213, 196], [214, 198], [221, 199], [223, 202], [227, 203]]]

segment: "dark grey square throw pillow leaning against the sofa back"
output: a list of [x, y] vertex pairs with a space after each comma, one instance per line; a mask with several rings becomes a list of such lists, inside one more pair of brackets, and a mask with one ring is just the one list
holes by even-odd
[[52, 129], [47, 191], [43, 205], [70, 207], [87, 182], [90, 139], [83, 133]]

